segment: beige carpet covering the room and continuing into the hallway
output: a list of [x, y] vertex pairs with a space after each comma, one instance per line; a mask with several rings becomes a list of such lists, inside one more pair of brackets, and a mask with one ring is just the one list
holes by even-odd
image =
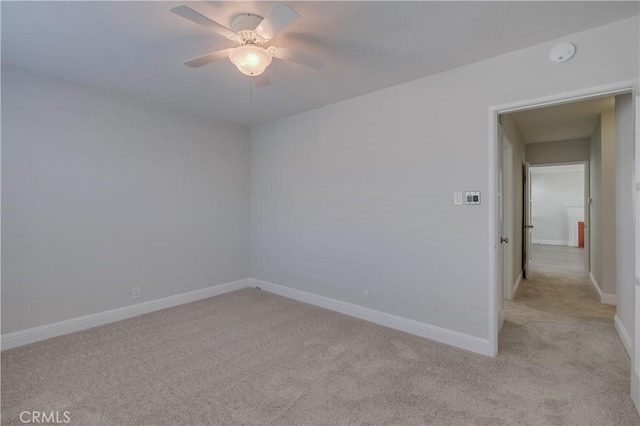
[[613, 313], [539, 275], [492, 359], [244, 289], [2, 352], [2, 423], [639, 424]]

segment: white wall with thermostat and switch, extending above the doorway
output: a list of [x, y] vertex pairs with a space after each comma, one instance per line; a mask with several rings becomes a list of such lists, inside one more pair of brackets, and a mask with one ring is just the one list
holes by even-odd
[[[252, 129], [252, 276], [486, 339], [488, 109], [638, 77], [637, 17]], [[479, 190], [480, 206], [455, 206]], [[361, 299], [363, 289], [370, 300]]]

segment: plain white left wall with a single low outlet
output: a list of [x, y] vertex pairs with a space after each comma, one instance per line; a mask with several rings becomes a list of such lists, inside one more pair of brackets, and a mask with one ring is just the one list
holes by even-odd
[[249, 160], [248, 128], [3, 67], [2, 333], [247, 278]]

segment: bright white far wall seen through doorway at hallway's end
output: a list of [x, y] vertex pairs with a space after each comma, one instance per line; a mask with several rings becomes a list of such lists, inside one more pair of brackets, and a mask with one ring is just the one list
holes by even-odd
[[532, 167], [531, 197], [532, 242], [577, 246], [578, 222], [584, 221], [584, 167]]

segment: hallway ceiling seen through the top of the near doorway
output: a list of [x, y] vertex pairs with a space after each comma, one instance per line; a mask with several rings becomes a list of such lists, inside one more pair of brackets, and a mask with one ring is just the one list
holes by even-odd
[[588, 138], [600, 114], [614, 108], [615, 97], [608, 96], [516, 112], [511, 116], [522, 140], [530, 144]]

